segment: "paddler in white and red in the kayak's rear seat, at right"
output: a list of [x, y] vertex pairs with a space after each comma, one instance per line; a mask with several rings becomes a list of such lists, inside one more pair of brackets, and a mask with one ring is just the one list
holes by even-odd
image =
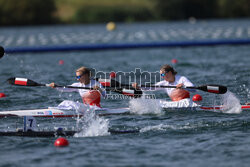
[[[157, 82], [156, 86], [175, 86], [176, 88], [156, 88], [156, 90], [166, 91], [172, 101], [180, 101], [185, 98], [190, 98], [188, 90], [183, 89], [183, 86], [194, 86], [185, 76], [177, 75], [174, 68], [168, 64], [165, 64], [160, 69], [161, 77], [163, 81]], [[136, 89], [140, 89], [137, 83], [133, 83], [132, 86]]]

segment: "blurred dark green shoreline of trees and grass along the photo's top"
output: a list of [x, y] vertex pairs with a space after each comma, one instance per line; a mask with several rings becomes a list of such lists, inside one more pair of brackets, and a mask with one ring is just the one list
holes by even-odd
[[[67, 0], [0, 0], [0, 25], [40, 25], [58, 23], [103, 23], [250, 17], [249, 0], [137, 0], [141, 5], [99, 3], [72, 7], [69, 19], [62, 19]], [[68, 1], [68, 5], [72, 1]], [[82, 0], [84, 1], [84, 0]], [[115, 2], [116, 0], [113, 0]], [[134, 0], [136, 1], [136, 0]], [[150, 5], [143, 5], [143, 3]], [[79, 1], [80, 2], [80, 1]], [[81, 3], [79, 3], [81, 4]], [[115, 4], [115, 3], [113, 3]], [[58, 11], [62, 11], [61, 14]]]

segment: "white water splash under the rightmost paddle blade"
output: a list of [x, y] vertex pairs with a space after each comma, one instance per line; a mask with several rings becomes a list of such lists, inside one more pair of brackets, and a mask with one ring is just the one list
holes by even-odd
[[242, 112], [240, 100], [230, 91], [222, 95], [222, 112], [239, 114]]

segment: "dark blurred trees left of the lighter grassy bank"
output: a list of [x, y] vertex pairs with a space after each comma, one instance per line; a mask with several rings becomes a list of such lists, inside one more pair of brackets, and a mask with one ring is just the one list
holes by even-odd
[[0, 0], [0, 25], [52, 24], [54, 0]]

